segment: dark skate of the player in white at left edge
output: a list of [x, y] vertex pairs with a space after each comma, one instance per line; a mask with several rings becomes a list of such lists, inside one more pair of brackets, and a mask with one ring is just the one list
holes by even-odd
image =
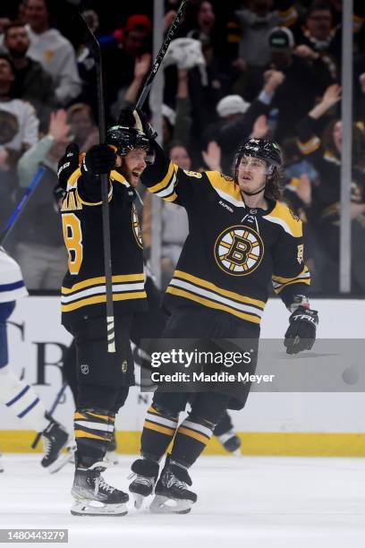
[[73, 455], [70, 452], [61, 453], [69, 443], [69, 434], [51, 416], [47, 416], [47, 418], [50, 419], [50, 422], [46, 430], [42, 432], [45, 456], [40, 464], [47, 468], [50, 474], [55, 474], [71, 460]]

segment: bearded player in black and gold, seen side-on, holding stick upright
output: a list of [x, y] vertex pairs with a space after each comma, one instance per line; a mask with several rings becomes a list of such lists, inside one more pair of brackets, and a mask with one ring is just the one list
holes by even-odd
[[[62, 287], [62, 322], [75, 338], [78, 398], [72, 496], [74, 515], [126, 513], [128, 494], [100, 475], [113, 437], [115, 414], [134, 383], [130, 326], [146, 308], [142, 243], [134, 187], [149, 162], [149, 140], [123, 124], [106, 134], [106, 145], [79, 158], [69, 146], [58, 174], [66, 194], [61, 208], [69, 254]], [[81, 161], [80, 161], [81, 160]], [[115, 310], [115, 354], [107, 353], [106, 278], [103, 264], [100, 175], [109, 174], [109, 211]]]

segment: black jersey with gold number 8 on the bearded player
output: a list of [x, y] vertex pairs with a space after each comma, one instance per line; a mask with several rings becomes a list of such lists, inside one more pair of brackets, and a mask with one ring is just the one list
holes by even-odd
[[[142, 239], [135, 191], [118, 172], [110, 174], [109, 215], [115, 315], [146, 310]], [[62, 322], [106, 313], [106, 278], [100, 183], [72, 170], [62, 209], [69, 259], [62, 287]]]

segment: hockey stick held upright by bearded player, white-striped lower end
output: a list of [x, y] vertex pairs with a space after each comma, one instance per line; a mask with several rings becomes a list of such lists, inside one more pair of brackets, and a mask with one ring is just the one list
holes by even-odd
[[[103, 86], [103, 67], [101, 59], [101, 50], [98, 40], [95, 38], [88, 23], [84, 20], [81, 13], [75, 13], [73, 21], [81, 30], [81, 36], [85, 39], [85, 44], [89, 47], [89, 52], [93, 56], [97, 70], [97, 90], [98, 90], [98, 128], [100, 143], [106, 142], [106, 114], [104, 109], [104, 86]], [[115, 316], [113, 304], [113, 278], [112, 278], [112, 253], [110, 245], [110, 221], [109, 221], [109, 202], [108, 186], [109, 177], [105, 174], [100, 176], [101, 196], [102, 196], [102, 218], [103, 218], [103, 244], [104, 244], [104, 270], [106, 273], [106, 333], [107, 333], [107, 351], [115, 352]]]

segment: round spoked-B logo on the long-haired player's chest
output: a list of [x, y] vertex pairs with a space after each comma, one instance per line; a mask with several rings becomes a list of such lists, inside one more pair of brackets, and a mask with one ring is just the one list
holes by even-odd
[[232, 276], [246, 276], [256, 270], [264, 255], [261, 237], [250, 227], [225, 228], [216, 238], [216, 264]]

